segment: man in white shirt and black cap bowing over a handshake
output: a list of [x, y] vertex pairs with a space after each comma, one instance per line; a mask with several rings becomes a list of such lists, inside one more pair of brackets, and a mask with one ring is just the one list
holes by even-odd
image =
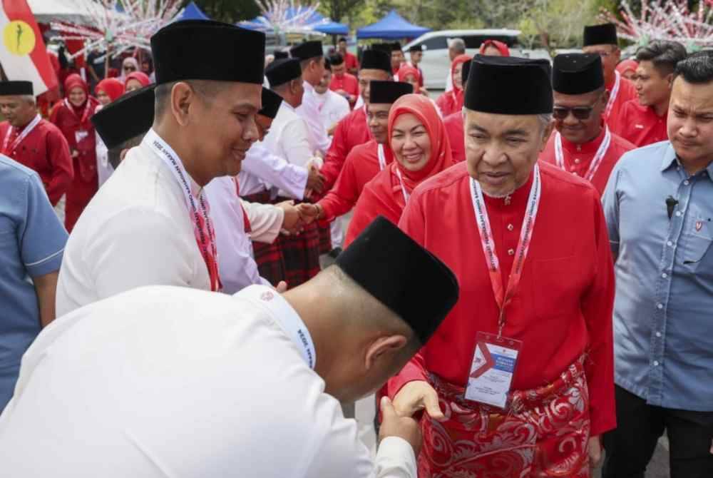
[[381, 387], [457, 299], [453, 273], [379, 218], [284, 295], [150, 286], [82, 307], [24, 357], [0, 420], [3, 471], [416, 478], [418, 423], [384, 399], [372, 459], [339, 401]]

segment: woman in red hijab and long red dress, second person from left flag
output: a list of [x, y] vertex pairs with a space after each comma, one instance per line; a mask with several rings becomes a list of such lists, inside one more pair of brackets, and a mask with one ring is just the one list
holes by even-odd
[[60, 129], [72, 153], [74, 179], [67, 191], [64, 219], [64, 226], [71, 232], [98, 188], [96, 134], [90, 119], [99, 102], [89, 96], [89, 86], [76, 73], [64, 81], [64, 91], [67, 97], [56, 104], [49, 119]]

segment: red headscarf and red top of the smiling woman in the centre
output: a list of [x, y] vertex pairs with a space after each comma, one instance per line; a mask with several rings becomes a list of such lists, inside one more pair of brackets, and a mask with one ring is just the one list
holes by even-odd
[[[404, 182], [406, 194], [411, 194], [421, 182], [435, 176], [453, 165], [451, 143], [448, 141], [446, 127], [438, 116], [434, 103], [425, 96], [410, 94], [401, 96], [389, 112], [389, 139], [394, 131], [394, 123], [399, 116], [412, 114], [423, 123], [431, 139], [431, 156], [429, 162], [419, 171], [409, 171], [399, 161], [392, 162], [384, 171], [377, 174], [373, 180], [366, 183], [356, 203], [354, 217], [349, 223], [344, 247], [366, 228], [378, 215], [383, 215], [393, 223], [398, 223], [404, 212], [406, 201], [401, 190], [401, 180]], [[394, 152], [394, 157], [396, 152]], [[398, 173], [397, 173], [398, 171]], [[399, 173], [401, 179], [399, 179]]]

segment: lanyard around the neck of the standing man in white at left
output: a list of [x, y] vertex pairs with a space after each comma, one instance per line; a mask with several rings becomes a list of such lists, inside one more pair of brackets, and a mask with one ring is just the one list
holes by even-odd
[[[153, 131], [153, 129], [148, 130], [146, 133], [146, 142], [153, 148], [153, 150], [158, 153], [158, 156], [166, 163], [170, 169], [173, 176], [180, 184], [181, 190], [183, 190], [183, 198], [185, 199], [186, 207], [189, 210], [190, 215], [193, 217], [195, 225], [198, 227], [199, 235], [199, 248], [200, 254], [205, 260], [205, 265], [208, 268], [208, 275], [210, 276], [210, 290], [216, 291], [220, 290], [220, 278], [217, 275], [217, 248], [215, 245], [215, 238], [212, 235], [212, 223], [210, 222], [210, 215], [208, 215], [207, 208], [205, 206], [205, 200], [203, 195], [198, 195], [198, 200], [200, 202], [200, 212], [202, 213], [203, 220], [205, 223], [205, 232], [207, 232], [208, 237], [205, 237], [204, 228], [200, 226], [200, 218], [198, 216], [198, 208], [195, 205], [195, 200], [193, 198], [193, 193], [190, 191], [190, 185], [186, 176], [185, 168], [183, 168], [183, 163], [180, 159], [177, 159], [177, 155], [173, 151], [173, 148], [168, 146], [168, 143], [163, 141], [163, 139], [158, 136], [158, 134]], [[212, 253], [212, 258], [210, 257]], [[211, 270], [211, 263], [215, 266], [215, 271]]]

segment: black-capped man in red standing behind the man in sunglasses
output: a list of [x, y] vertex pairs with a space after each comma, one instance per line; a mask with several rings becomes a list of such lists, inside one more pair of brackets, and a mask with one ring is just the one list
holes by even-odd
[[619, 136], [617, 120], [624, 103], [636, 98], [634, 85], [622, 78], [617, 71], [617, 64], [621, 59], [617, 27], [615, 24], [590, 25], [584, 27], [584, 53], [598, 54], [602, 57], [604, 68], [604, 84], [609, 91], [609, 103], [604, 110], [604, 118], [612, 133]]

